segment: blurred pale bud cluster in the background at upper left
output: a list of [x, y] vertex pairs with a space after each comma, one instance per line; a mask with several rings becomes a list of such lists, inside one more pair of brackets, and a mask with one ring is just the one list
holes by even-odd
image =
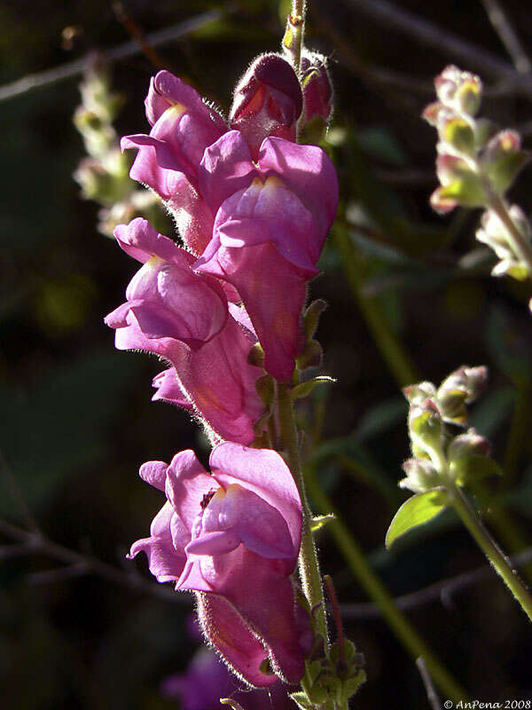
[[113, 121], [123, 104], [111, 91], [106, 69], [95, 62], [80, 84], [82, 104], [74, 113], [74, 125], [82, 135], [87, 156], [74, 171], [85, 200], [98, 202], [98, 231], [113, 236], [116, 225], [134, 217], [160, 223], [163, 214], [159, 198], [138, 189], [129, 177], [130, 159], [121, 153]]

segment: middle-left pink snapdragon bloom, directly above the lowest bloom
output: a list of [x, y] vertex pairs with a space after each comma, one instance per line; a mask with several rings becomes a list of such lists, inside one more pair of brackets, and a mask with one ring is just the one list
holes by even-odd
[[[144, 350], [173, 366], [156, 378], [158, 396], [194, 412], [218, 438], [250, 444], [264, 407], [262, 369], [248, 365], [254, 334], [228, 312], [220, 284], [192, 271], [194, 256], [144, 219], [116, 229], [121, 248], [144, 266], [127, 301], [106, 318], [119, 350]], [[233, 307], [234, 312], [234, 307]]]

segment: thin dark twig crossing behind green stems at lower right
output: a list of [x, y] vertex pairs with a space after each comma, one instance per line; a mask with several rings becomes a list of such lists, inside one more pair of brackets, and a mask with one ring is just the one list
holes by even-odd
[[[532, 561], [532, 548], [528, 548], [520, 552], [519, 555], [510, 557], [510, 562], [516, 566], [522, 566]], [[488, 564], [478, 567], [472, 572], [464, 572], [456, 577], [450, 577], [446, 580], [434, 582], [423, 589], [416, 592], [396, 596], [394, 599], [395, 606], [402, 611], [416, 609], [425, 604], [431, 604], [437, 599], [440, 599], [444, 606], [452, 606], [451, 597], [458, 591], [471, 587], [473, 584], [478, 584], [482, 580], [493, 578], [493, 570]], [[342, 604], [341, 615], [344, 619], [378, 619], [381, 612], [377, 604], [362, 603], [362, 604]]]

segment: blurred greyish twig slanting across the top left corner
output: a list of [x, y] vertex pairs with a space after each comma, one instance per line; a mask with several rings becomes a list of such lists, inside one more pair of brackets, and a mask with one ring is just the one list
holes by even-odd
[[[176, 25], [172, 25], [169, 28], [159, 29], [149, 35], [146, 35], [145, 42], [152, 47], [167, 44], [169, 42], [175, 42], [181, 37], [190, 35], [194, 30], [203, 28], [211, 22], [219, 20], [221, 17], [223, 17], [223, 12], [220, 10], [202, 12], [200, 15], [196, 15], [195, 17], [184, 20], [183, 22], [178, 22]], [[140, 48], [137, 40], [131, 40], [130, 42], [113, 47], [113, 49], [101, 51], [100, 56], [104, 61], [113, 62], [134, 57], [139, 52]], [[17, 96], [20, 96], [20, 94], [27, 93], [28, 91], [43, 89], [44, 87], [51, 86], [51, 84], [62, 82], [65, 79], [70, 79], [73, 76], [80, 75], [89, 69], [93, 62], [94, 52], [91, 51], [81, 59], [75, 59], [72, 62], [61, 65], [60, 67], [53, 67], [52, 69], [47, 69], [39, 74], [23, 76], [16, 82], [0, 86], [0, 101], [14, 99]]]

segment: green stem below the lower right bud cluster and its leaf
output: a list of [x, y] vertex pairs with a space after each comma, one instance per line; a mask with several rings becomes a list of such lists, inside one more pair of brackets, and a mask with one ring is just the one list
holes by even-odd
[[528, 589], [517, 576], [517, 572], [512, 569], [507, 557], [497, 547], [495, 540], [491, 538], [489, 532], [481, 524], [481, 520], [473, 510], [465, 494], [458, 488], [458, 485], [448, 485], [447, 488], [451, 495], [452, 504], [465, 527], [473, 535], [474, 540], [488, 557], [496, 572], [503, 578], [512, 595], [515, 596], [523, 611], [528, 615], [528, 619], [532, 621], [532, 597], [529, 595]]

